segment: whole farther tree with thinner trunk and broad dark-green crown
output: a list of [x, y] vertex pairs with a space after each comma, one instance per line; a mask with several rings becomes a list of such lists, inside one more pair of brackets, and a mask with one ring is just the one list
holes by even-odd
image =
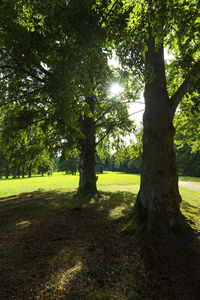
[[[113, 75], [107, 63], [110, 50], [105, 30], [99, 24], [99, 13], [93, 9], [95, 1], [16, 3], [11, 19], [5, 14], [10, 0], [3, 3], [0, 11], [2, 102], [34, 108], [44, 124], [51, 124], [60, 148], [70, 149], [78, 144], [78, 191], [96, 193], [97, 144], [114, 134], [119, 125], [123, 131], [130, 126], [122, 103], [118, 106], [121, 105], [123, 122], [119, 118], [108, 122], [109, 110], [113, 108], [117, 113], [112, 114], [119, 116], [119, 109], [102, 101]], [[24, 43], [24, 39], [29, 43]], [[104, 119], [101, 126], [100, 115]], [[104, 132], [96, 142], [97, 127], [98, 132]]]

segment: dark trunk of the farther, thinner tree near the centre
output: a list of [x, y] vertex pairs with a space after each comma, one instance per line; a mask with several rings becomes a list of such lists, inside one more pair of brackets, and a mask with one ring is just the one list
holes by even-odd
[[[86, 102], [89, 104], [91, 112], [94, 111], [94, 99], [88, 97]], [[84, 138], [80, 140], [80, 164], [79, 164], [79, 188], [78, 193], [96, 194], [97, 177], [95, 174], [95, 124], [93, 117], [85, 115], [80, 118], [81, 131]]]

